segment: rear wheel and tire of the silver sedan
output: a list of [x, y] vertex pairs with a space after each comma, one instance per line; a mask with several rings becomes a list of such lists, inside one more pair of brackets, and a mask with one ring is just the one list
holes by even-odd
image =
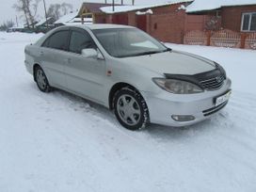
[[51, 86], [49, 85], [48, 79], [43, 70], [38, 66], [34, 72], [35, 81], [42, 92], [50, 92]]

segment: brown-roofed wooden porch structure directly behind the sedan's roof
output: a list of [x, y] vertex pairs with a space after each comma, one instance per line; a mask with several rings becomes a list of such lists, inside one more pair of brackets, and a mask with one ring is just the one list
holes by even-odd
[[111, 4], [83, 3], [78, 14], [85, 22], [91, 21], [93, 24], [104, 24], [105, 17], [101, 8], [108, 6], [111, 6]]

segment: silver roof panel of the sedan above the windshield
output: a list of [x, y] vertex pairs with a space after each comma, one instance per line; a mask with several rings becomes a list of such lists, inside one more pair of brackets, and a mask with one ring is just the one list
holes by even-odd
[[122, 24], [71, 24], [69, 26], [75, 26], [79, 28], [85, 29], [110, 29], [110, 28], [135, 28], [129, 25], [122, 25]]

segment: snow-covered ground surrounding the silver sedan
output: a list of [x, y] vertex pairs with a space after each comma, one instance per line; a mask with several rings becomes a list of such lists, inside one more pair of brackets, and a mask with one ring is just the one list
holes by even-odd
[[24, 45], [40, 36], [0, 33], [0, 191], [256, 191], [255, 51], [169, 44], [222, 64], [231, 102], [194, 126], [130, 132], [103, 106], [38, 90]]

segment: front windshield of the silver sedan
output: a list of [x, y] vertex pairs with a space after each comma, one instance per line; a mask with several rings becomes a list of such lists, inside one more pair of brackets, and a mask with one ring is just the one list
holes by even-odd
[[159, 41], [136, 28], [97, 29], [93, 33], [110, 56], [143, 56], [168, 51]]

